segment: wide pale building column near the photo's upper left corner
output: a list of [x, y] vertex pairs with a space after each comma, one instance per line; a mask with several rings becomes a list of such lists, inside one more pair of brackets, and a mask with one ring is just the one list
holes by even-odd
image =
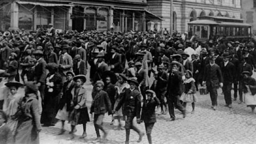
[[13, 1], [11, 4], [11, 21], [9, 30], [18, 30], [18, 4]]

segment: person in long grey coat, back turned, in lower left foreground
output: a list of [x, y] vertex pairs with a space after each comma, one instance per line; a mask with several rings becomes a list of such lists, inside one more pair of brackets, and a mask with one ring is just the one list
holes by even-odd
[[41, 124], [37, 100], [38, 86], [32, 81], [28, 81], [25, 85], [25, 97], [19, 104], [20, 108], [17, 112], [18, 126], [14, 140], [15, 144], [39, 144]]

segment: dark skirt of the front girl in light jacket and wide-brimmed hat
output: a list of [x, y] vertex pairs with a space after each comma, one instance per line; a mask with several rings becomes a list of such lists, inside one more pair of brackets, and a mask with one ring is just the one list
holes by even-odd
[[89, 114], [87, 107], [82, 109], [74, 109], [70, 112], [69, 122], [72, 126], [76, 126], [78, 124], [84, 124], [86, 122], [90, 122]]

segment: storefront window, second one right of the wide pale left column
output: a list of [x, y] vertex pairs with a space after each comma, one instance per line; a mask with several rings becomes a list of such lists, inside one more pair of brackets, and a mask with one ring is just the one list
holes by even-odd
[[37, 28], [47, 28], [48, 24], [51, 23], [51, 8], [49, 7], [37, 7], [37, 18], [36, 18]]

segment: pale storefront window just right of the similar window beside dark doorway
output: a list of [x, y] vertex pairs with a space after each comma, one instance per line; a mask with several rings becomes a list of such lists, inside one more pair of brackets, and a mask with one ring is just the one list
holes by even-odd
[[97, 30], [106, 31], [108, 30], [109, 23], [109, 11], [107, 9], [100, 9], [97, 14]]

